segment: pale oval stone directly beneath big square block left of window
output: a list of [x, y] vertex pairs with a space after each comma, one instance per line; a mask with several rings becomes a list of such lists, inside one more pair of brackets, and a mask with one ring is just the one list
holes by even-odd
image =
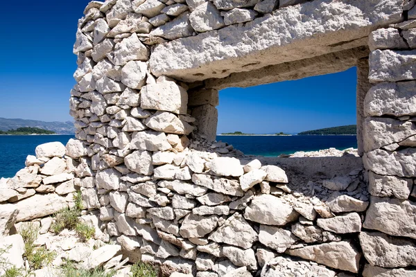
[[155, 131], [189, 135], [194, 127], [184, 120], [180, 120], [175, 114], [168, 111], [156, 111], [153, 116], [146, 118], [145, 124]]

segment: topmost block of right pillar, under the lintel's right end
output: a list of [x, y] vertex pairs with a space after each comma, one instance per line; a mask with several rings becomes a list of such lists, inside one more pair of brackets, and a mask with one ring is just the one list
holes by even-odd
[[406, 49], [408, 46], [396, 28], [381, 28], [374, 30], [368, 37], [370, 51], [376, 49]]

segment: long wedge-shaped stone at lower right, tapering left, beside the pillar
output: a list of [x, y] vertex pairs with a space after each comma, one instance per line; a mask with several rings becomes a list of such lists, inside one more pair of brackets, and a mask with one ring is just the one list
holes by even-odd
[[289, 255], [313, 260], [335, 269], [358, 273], [361, 254], [349, 242], [329, 242], [289, 249]]

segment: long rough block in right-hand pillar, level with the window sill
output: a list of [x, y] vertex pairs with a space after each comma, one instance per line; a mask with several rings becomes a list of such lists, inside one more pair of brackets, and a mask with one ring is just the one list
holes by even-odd
[[416, 149], [414, 148], [395, 152], [376, 149], [365, 153], [363, 162], [367, 170], [372, 170], [379, 175], [416, 176]]

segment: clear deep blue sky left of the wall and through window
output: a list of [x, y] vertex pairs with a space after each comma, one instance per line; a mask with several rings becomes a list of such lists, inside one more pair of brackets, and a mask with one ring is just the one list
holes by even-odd
[[[72, 54], [89, 0], [4, 1], [0, 17], [0, 117], [72, 120]], [[220, 91], [218, 133], [300, 132], [355, 124], [356, 70]]]

